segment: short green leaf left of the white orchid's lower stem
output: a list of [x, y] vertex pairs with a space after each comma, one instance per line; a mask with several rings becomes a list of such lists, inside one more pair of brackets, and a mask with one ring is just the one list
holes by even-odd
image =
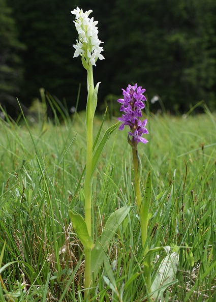
[[83, 217], [80, 214], [75, 213], [73, 210], [69, 210], [69, 216], [73, 223], [73, 228], [79, 237], [81, 243], [86, 249], [92, 248], [92, 240], [88, 234], [88, 229]]

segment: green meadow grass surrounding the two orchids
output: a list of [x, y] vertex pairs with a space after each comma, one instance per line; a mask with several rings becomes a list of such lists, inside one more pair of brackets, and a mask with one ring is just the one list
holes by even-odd
[[[148, 171], [152, 175], [149, 245], [179, 254], [166, 302], [216, 300], [216, 116], [205, 110], [184, 117], [149, 114], [149, 143], [138, 146], [143, 194]], [[68, 210], [84, 214], [84, 117], [42, 120], [29, 126], [32, 137], [25, 124], [0, 120], [2, 302], [83, 301], [83, 247]], [[95, 136], [101, 120], [95, 120]], [[114, 123], [105, 120], [102, 132]], [[95, 238], [116, 208], [132, 208], [95, 276], [91, 300], [147, 301], [127, 129], [108, 141], [92, 195]], [[155, 256], [152, 279], [166, 253]]]

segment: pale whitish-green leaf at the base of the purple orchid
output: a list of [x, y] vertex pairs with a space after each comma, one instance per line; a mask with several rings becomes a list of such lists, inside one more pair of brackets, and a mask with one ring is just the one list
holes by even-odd
[[153, 291], [152, 297], [157, 298], [165, 291], [169, 286], [170, 282], [175, 278], [177, 272], [179, 256], [177, 253], [172, 253], [162, 260], [155, 280], [151, 285], [151, 290]]

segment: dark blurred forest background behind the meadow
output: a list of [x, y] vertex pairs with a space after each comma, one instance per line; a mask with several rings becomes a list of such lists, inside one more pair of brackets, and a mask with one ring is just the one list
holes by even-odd
[[171, 112], [201, 100], [216, 109], [215, 0], [0, 0], [0, 103], [10, 114], [16, 97], [27, 108], [41, 87], [75, 106], [80, 83], [85, 108], [86, 71], [72, 46], [77, 6], [93, 10], [104, 42], [94, 68], [100, 104], [137, 82]]

